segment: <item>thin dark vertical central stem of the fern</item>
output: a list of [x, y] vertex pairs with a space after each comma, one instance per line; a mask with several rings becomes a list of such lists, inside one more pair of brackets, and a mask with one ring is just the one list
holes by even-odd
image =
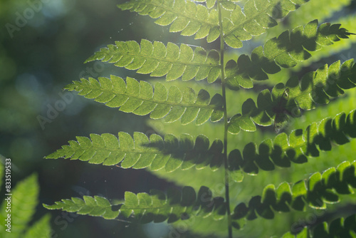
[[227, 108], [226, 108], [226, 78], [224, 75], [224, 34], [222, 26], [222, 15], [220, 1], [217, 1], [219, 9], [219, 25], [220, 25], [220, 68], [221, 68], [221, 88], [224, 106], [224, 165], [225, 165], [225, 199], [226, 199], [226, 212], [228, 220], [229, 238], [232, 238], [232, 226], [231, 226], [231, 210], [230, 210], [230, 195], [229, 195], [229, 164], [227, 161]]

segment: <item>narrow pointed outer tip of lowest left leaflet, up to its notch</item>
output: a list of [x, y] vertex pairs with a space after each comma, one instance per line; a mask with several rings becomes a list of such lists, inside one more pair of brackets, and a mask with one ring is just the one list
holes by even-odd
[[93, 217], [103, 217], [105, 219], [115, 219], [119, 211], [112, 210], [112, 205], [105, 197], [83, 196], [83, 200], [72, 197], [71, 200], [62, 200], [54, 205], [45, 205], [47, 209], [62, 209], [66, 212], [77, 212], [78, 214], [90, 215]]

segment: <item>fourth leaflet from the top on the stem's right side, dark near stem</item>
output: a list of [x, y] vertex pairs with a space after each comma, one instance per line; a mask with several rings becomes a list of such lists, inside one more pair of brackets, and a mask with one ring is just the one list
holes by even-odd
[[289, 136], [281, 133], [273, 142], [264, 140], [258, 149], [256, 143], [248, 143], [242, 154], [240, 150], [232, 150], [229, 153], [230, 170], [256, 175], [259, 169], [275, 170], [275, 165], [290, 167], [291, 162], [305, 163], [308, 157], [320, 156], [319, 150], [331, 150], [332, 143], [344, 145], [350, 142], [349, 138], [356, 138], [356, 110], [313, 123], [304, 132], [293, 130]]

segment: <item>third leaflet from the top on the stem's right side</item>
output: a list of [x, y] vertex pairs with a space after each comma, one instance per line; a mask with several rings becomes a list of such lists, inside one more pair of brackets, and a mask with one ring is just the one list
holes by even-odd
[[[283, 109], [290, 110], [290, 115], [298, 117], [299, 108], [312, 110], [316, 103], [327, 104], [330, 97], [338, 97], [344, 94], [345, 89], [355, 88], [355, 77], [356, 64], [353, 59], [345, 61], [342, 65], [340, 61], [329, 67], [325, 64], [317, 71], [306, 73], [300, 82], [297, 77], [292, 77], [286, 83], [289, 91], [288, 102]], [[261, 91], [258, 94], [257, 106], [252, 99], [246, 100], [242, 105], [242, 114], [236, 114], [231, 118], [229, 132], [238, 134], [240, 130], [255, 131], [255, 123], [263, 126], [271, 125], [284, 90], [283, 83], [278, 83], [272, 93], [267, 89]]]

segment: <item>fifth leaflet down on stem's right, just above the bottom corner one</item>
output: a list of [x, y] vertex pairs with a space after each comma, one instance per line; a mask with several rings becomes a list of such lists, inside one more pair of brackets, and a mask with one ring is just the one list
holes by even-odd
[[[241, 202], [234, 209], [233, 219], [256, 219], [258, 216], [273, 219], [274, 212], [303, 211], [308, 205], [315, 209], [325, 209], [326, 204], [339, 202], [338, 195], [350, 195], [351, 187], [356, 188], [355, 162], [343, 162], [330, 167], [323, 174], [315, 172], [308, 180], [300, 180], [290, 186], [287, 182], [277, 188], [268, 185], [262, 196], [252, 197], [246, 205]], [[258, 216], [257, 216], [258, 215]]]

